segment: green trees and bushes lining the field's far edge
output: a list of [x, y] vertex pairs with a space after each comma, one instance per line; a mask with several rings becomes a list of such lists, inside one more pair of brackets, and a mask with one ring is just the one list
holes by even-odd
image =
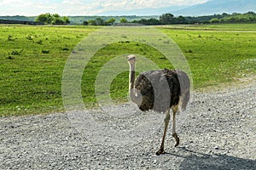
[[[195, 24], [195, 23], [245, 23], [245, 22], [256, 22], [256, 14], [254, 12], [247, 12], [245, 14], [213, 14], [206, 16], [174, 16], [173, 14], [167, 13], [162, 14], [156, 18], [144, 19], [135, 16], [122, 16], [113, 17], [107, 20], [103, 20], [102, 17], [97, 17], [96, 19], [83, 20], [80, 25], [84, 26], [112, 26], [116, 23], [137, 23], [147, 26], [154, 25], [172, 25], [172, 24]], [[51, 24], [51, 25], [67, 25], [71, 23], [71, 20], [67, 16], [61, 17], [60, 14], [40, 14], [35, 19], [36, 22]], [[73, 24], [73, 23], [71, 23]]]

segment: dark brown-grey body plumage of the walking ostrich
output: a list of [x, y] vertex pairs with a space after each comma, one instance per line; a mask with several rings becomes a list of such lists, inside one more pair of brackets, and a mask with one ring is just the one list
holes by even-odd
[[[142, 103], [138, 105], [140, 110], [165, 112], [172, 108], [172, 105], [177, 105], [183, 91], [179, 77], [185, 77], [182, 82], [189, 81], [183, 71], [168, 69], [147, 71], [139, 75], [134, 88], [143, 96]], [[185, 105], [187, 104], [184, 103], [184, 107]]]

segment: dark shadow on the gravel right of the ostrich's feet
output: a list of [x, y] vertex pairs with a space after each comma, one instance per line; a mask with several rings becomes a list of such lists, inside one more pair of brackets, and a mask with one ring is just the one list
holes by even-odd
[[256, 160], [243, 159], [235, 156], [223, 154], [209, 155], [186, 148], [181, 148], [183, 152], [189, 152], [189, 156], [182, 156], [173, 153], [167, 153], [172, 156], [183, 157], [179, 169], [256, 169]]

